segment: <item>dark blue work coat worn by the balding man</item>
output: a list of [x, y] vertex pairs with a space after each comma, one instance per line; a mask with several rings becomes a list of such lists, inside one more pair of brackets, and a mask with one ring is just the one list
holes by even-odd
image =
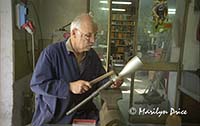
[[35, 113], [32, 126], [72, 123], [73, 118], [81, 118], [83, 114], [80, 113], [87, 114], [97, 110], [90, 100], [77, 111], [66, 115], [67, 111], [108, 80], [105, 79], [94, 85], [84, 94], [73, 94], [69, 90], [70, 82], [91, 81], [104, 74], [105, 70], [93, 49], [86, 52], [86, 57], [78, 65], [75, 55], [67, 50], [66, 42], [49, 45], [42, 51], [37, 61], [30, 83], [31, 90], [35, 93]]

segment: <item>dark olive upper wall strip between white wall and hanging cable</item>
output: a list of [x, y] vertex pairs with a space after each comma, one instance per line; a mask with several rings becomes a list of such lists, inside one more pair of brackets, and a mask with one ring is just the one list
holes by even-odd
[[[31, 36], [16, 25], [16, 5], [20, 0], [12, 0], [13, 8], [13, 41], [15, 45], [15, 80], [32, 72]], [[31, 13], [31, 11], [29, 12]]]

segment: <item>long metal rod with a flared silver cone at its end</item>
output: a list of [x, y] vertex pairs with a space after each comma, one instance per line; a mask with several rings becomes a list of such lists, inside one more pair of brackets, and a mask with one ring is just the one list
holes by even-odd
[[141, 60], [135, 56], [133, 57], [126, 65], [125, 67], [121, 70], [121, 72], [118, 74], [118, 76], [110, 81], [108, 81], [107, 83], [105, 83], [104, 85], [102, 85], [101, 87], [99, 87], [95, 92], [93, 92], [89, 97], [87, 97], [86, 99], [84, 99], [83, 101], [81, 101], [79, 104], [77, 104], [75, 107], [73, 107], [72, 109], [70, 109], [66, 115], [70, 115], [72, 112], [74, 112], [75, 110], [77, 110], [80, 106], [82, 106], [83, 104], [85, 104], [86, 102], [88, 102], [90, 99], [92, 99], [93, 97], [95, 97], [101, 90], [111, 86], [115, 80], [121, 79], [133, 72], [135, 72], [137, 69], [139, 69], [141, 66], [143, 65], [143, 63], [141, 62]]

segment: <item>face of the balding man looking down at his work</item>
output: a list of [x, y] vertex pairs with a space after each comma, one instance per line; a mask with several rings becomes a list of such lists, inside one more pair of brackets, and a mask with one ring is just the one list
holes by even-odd
[[79, 52], [88, 51], [94, 45], [97, 28], [93, 25], [83, 25], [76, 32], [76, 48]]

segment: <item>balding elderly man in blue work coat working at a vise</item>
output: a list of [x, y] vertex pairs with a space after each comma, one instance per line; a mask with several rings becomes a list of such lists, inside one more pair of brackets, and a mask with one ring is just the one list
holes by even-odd
[[[81, 14], [71, 23], [70, 38], [49, 45], [37, 62], [31, 90], [35, 93], [35, 113], [32, 126], [43, 124], [67, 124], [74, 118], [98, 121], [99, 111], [90, 100], [76, 112], [66, 112], [88, 97], [108, 81], [90, 86], [90, 80], [105, 73], [101, 61], [92, 49], [97, 24], [89, 14]], [[114, 83], [112, 87], [119, 87]]]

